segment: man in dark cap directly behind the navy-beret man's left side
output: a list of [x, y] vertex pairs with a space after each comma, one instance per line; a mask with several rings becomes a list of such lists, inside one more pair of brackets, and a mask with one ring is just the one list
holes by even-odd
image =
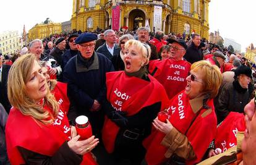
[[70, 58], [74, 57], [78, 53], [77, 44], [75, 43], [75, 39], [79, 34], [74, 33], [69, 35], [69, 38], [67, 38], [67, 41], [69, 42], [70, 49], [67, 49], [64, 54], [62, 54], [62, 62], [63, 62], [63, 69], [66, 66], [67, 62]]

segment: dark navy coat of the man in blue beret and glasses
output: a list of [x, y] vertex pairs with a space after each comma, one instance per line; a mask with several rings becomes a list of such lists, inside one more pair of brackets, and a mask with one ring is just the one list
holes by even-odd
[[[106, 95], [106, 72], [114, 71], [114, 67], [103, 54], [94, 52], [92, 64], [87, 68], [80, 52], [72, 57], [64, 69], [64, 81], [67, 82], [67, 95], [70, 104], [77, 108], [73, 116], [85, 115], [92, 124], [93, 133], [100, 132], [103, 124], [103, 112], [91, 112], [94, 99], [99, 103]], [[69, 112], [71, 113], [71, 112]], [[74, 113], [74, 112], [72, 112]]]

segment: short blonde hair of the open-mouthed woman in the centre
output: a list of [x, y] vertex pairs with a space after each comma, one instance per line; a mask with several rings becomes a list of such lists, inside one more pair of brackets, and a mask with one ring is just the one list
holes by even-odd
[[144, 66], [146, 66], [150, 59], [150, 54], [151, 54], [150, 46], [148, 46], [148, 44], [141, 43], [140, 41], [137, 41], [137, 40], [129, 40], [124, 45], [124, 49], [127, 49], [130, 46], [135, 46], [138, 51], [142, 52], [142, 56], [146, 59], [146, 62], [144, 64]]

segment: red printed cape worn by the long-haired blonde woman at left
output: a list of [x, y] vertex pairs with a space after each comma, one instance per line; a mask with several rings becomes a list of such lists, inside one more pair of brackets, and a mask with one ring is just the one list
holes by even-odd
[[[70, 140], [70, 125], [67, 119], [66, 108], [60, 103], [58, 117], [53, 124], [41, 124], [31, 116], [23, 115], [19, 109], [12, 108], [6, 123], [6, 146], [11, 164], [25, 164], [17, 146], [26, 148], [35, 153], [53, 156], [59, 147]], [[51, 109], [43, 107], [50, 114]], [[83, 155], [81, 164], [95, 165], [91, 153]]]

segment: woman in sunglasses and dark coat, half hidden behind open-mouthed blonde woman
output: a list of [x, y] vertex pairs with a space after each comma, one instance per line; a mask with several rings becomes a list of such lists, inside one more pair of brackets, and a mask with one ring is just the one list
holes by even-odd
[[113, 66], [114, 66], [114, 70], [124, 70], [124, 44], [126, 44], [127, 41], [129, 40], [134, 40], [134, 37], [130, 34], [127, 35], [122, 35], [119, 38], [119, 48], [121, 48], [121, 51], [119, 54], [117, 54], [116, 56], [113, 56], [113, 58], [111, 59]]

